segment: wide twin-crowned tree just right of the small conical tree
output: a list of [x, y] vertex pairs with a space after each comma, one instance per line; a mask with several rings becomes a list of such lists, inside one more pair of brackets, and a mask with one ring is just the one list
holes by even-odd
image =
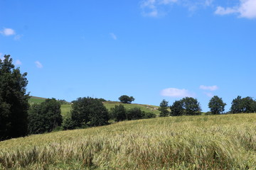
[[199, 115], [201, 113], [200, 104], [197, 99], [191, 97], [175, 101], [170, 108], [171, 115]]

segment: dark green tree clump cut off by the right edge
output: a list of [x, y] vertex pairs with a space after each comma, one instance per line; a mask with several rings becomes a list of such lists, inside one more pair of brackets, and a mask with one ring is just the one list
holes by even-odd
[[256, 101], [251, 97], [242, 98], [238, 96], [233, 99], [232, 106], [230, 108], [231, 113], [255, 113], [256, 112]]

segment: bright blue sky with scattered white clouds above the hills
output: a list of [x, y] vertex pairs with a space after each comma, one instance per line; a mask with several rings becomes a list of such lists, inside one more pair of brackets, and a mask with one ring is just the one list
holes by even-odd
[[203, 111], [256, 97], [256, 0], [0, 0], [0, 57], [28, 72], [32, 96], [92, 96]]

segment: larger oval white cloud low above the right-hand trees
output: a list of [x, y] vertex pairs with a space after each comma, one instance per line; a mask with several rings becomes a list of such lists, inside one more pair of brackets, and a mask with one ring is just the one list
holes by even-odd
[[161, 91], [161, 96], [169, 97], [192, 97], [194, 96], [186, 89], [168, 88]]

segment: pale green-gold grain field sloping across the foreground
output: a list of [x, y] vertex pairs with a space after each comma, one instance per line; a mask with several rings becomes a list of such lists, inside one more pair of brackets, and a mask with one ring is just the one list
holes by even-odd
[[256, 114], [134, 120], [0, 142], [0, 169], [256, 169]]

